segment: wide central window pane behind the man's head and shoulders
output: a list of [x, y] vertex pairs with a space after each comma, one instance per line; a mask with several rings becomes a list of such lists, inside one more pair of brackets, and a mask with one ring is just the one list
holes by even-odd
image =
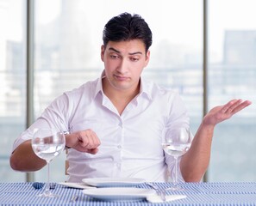
[[[153, 31], [151, 61], [144, 76], [178, 90], [190, 102], [187, 106], [196, 129], [203, 111], [202, 2], [168, 1], [168, 7], [166, 3], [97, 0], [89, 5], [84, 0], [36, 1], [35, 116], [59, 94], [101, 75], [103, 27], [112, 16], [128, 11], [145, 18]], [[100, 15], [95, 16], [95, 10]], [[159, 12], [153, 14], [153, 10]], [[63, 178], [59, 176], [63, 162], [52, 162], [52, 179]], [[37, 175], [45, 177], [45, 170]]]

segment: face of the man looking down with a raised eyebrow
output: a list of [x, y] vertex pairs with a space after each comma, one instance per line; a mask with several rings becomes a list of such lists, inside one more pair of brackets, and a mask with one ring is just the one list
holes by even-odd
[[101, 58], [105, 66], [106, 83], [116, 90], [138, 87], [140, 74], [147, 66], [150, 52], [141, 40], [109, 41], [102, 45]]

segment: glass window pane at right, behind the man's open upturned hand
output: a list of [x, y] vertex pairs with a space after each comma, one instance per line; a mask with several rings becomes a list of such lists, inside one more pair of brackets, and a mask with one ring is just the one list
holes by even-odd
[[209, 1], [209, 107], [231, 99], [253, 105], [215, 130], [210, 181], [255, 181], [255, 1]]

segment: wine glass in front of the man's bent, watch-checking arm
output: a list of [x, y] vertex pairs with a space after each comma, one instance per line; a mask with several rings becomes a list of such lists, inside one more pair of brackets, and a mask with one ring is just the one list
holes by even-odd
[[34, 129], [32, 138], [32, 148], [34, 154], [47, 161], [47, 184], [43, 193], [39, 197], [58, 197], [50, 191], [50, 167], [49, 163], [58, 156], [65, 148], [66, 138], [63, 132], [55, 129]]

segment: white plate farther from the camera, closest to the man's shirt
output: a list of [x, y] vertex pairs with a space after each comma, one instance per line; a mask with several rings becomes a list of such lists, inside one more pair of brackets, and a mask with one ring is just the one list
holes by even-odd
[[130, 187], [136, 186], [145, 182], [145, 179], [135, 178], [95, 178], [95, 179], [82, 179], [86, 185], [96, 187]]

